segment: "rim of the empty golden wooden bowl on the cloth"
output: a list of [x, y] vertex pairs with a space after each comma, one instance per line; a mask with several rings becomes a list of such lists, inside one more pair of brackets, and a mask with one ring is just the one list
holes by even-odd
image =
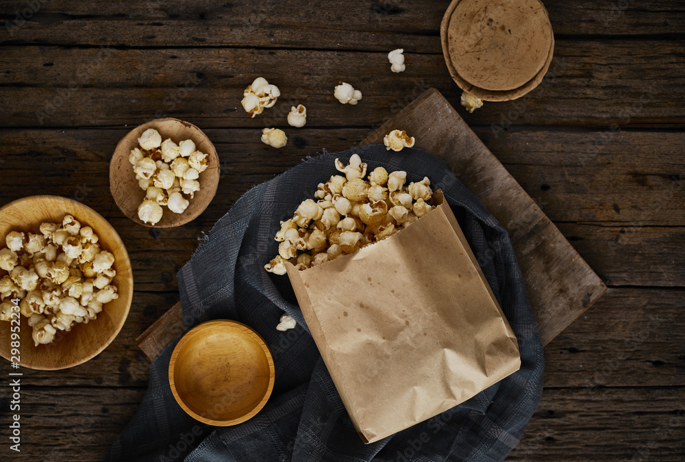
[[[181, 397], [178, 395], [178, 392], [176, 391], [176, 387], [174, 384], [174, 366], [176, 363], [176, 359], [179, 355], [179, 352], [183, 348], [184, 344], [190, 339], [191, 337], [198, 335], [202, 333], [203, 331], [206, 331], [206, 329], [210, 329], [212, 327], [224, 327], [224, 328], [229, 328], [230, 330], [237, 330], [241, 331], [242, 333], [247, 333], [250, 337], [252, 337], [253, 340], [255, 340], [259, 346], [262, 347], [262, 350], [264, 351], [264, 355], [266, 356], [266, 362], [269, 364], [269, 385], [266, 387], [266, 392], [264, 392], [264, 397], [262, 400], [248, 413], [245, 415], [242, 415], [239, 418], [235, 418], [232, 420], [212, 420], [208, 419], [206, 417], [203, 417], [202, 415], [199, 415], [195, 411], [192, 411], [186, 403], [181, 399]], [[247, 324], [243, 324], [242, 322], [234, 321], [234, 320], [228, 320], [228, 319], [219, 319], [219, 320], [212, 320], [212, 321], [207, 321], [203, 322], [202, 324], [199, 324], [190, 331], [186, 332], [183, 337], [178, 341], [176, 346], [173, 349], [173, 352], [171, 353], [171, 360], [169, 361], [169, 385], [171, 386], [171, 393], [173, 394], [173, 397], [175, 398], [176, 402], [190, 417], [194, 418], [195, 420], [199, 420], [199, 422], [202, 422], [203, 424], [208, 424], [208, 425], [213, 425], [213, 426], [232, 426], [232, 425], [237, 425], [237, 424], [242, 424], [242, 422], [246, 422], [247, 420], [253, 418], [259, 411], [262, 410], [264, 405], [266, 405], [266, 401], [269, 400], [271, 397], [271, 392], [273, 391], [273, 383], [275, 379], [275, 367], [273, 365], [273, 356], [271, 355], [271, 350], [269, 350], [269, 346], [266, 345], [266, 342], [264, 342], [264, 339], [262, 338], [261, 335], [257, 333], [254, 329], [252, 329], [250, 326]]]

